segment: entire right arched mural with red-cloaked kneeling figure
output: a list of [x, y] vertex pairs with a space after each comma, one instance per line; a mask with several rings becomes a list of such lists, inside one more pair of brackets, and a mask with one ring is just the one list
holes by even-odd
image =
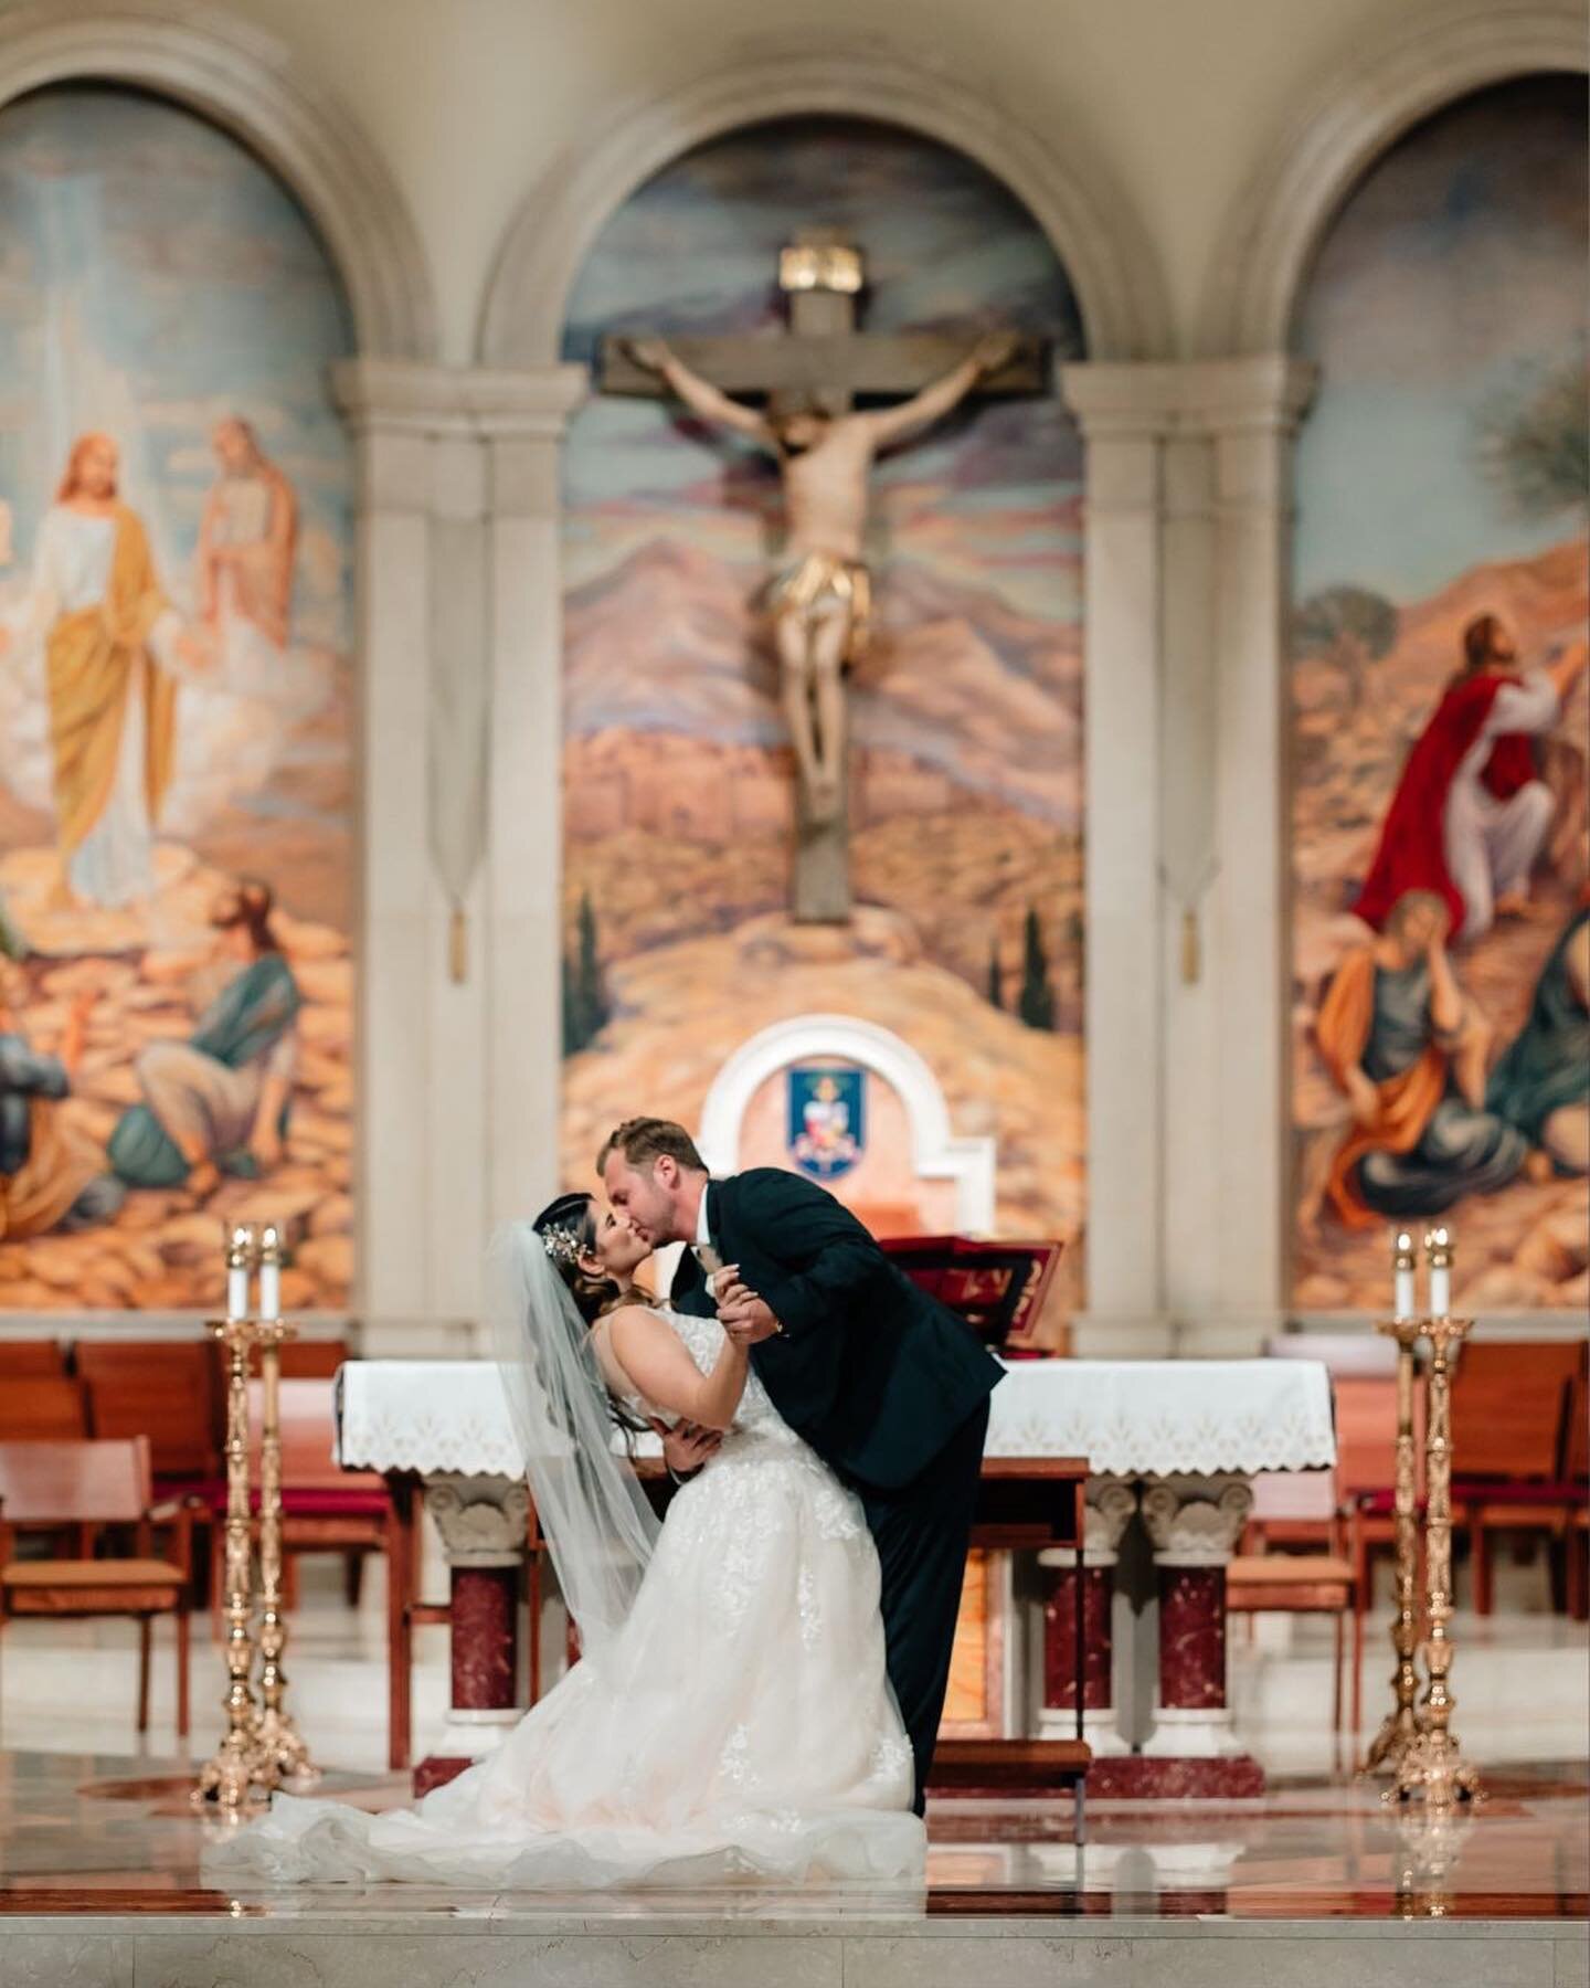
[[1361, 181], [1302, 310], [1294, 1300], [1586, 1304], [1586, 105], [1532, 78]]

